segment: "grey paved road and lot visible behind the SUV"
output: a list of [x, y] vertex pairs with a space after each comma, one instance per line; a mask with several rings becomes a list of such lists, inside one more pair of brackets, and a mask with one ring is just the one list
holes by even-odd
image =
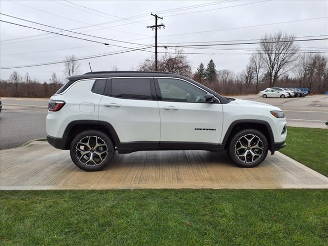
[[[261, 98], [256, 95], [236, 96], [240, 99], [260, 101], [281, 108], [289, 126], [327, 128], [328, 96], [315, 95], [303, 98]], [[0, 149], [18, 147], [24, 142], [46, 137], [46, 98], [1, 98]]]

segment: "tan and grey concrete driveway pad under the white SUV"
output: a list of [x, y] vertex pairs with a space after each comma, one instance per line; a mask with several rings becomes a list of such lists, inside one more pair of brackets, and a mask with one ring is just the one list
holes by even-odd
[[0, 151], [0, 189], [328, 188], [328, 178], [276, 152], [258, 167], [238, 168], [225, 153], [144, 151], [115, 154], [109, 167], [85, 172], [69, 151], [47, 142]]

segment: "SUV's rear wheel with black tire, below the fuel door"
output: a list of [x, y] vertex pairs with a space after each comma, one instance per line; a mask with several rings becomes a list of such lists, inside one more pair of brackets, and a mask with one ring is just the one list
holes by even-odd
[[[88, 148], [88, 144], [91, 149]], [[96, 144], [99, 146], [96, 147]], [[70, 146], [72, 161], [85, 171], [99, 171], [106, 168], [113, 159], [114, 151], [109, 136], [97, 130], [87, 130], [77, 134]]]

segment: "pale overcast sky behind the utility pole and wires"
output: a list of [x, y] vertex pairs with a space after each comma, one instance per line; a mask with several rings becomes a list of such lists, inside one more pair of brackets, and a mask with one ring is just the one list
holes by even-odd
[[[1, 15], [1, 20], [6, 22], [129, 48], [154, 44], [155, 32], [146, 27], [154, 25], [154, 17], [150, 15], [151, 12], [157, 12], [159, 16], [162, 16], [162, 23], [166, 26], [165, 29], [158, 30], [158, 43], [257, 39], [265, 33], [275, 33], [279, 30], [297, 37], [328, 35], [327, 18], [292, 22], [328, 16], [327, 1], [1, 1], [0, 4], [2, 14], [136, 44], [60, 32], [55, 28]], [[280, 24], [265, 25], [273, 23]], [[1, 67], [61, 61], [66, 55], [71, 54], [75, 54], [77, 57], [86, 57], [126, 49], [49, 34], [4, 22], [0, 24], [0, 31]], [[319, 38], [325, 37], [328, 36]], [[328, 47], [327, 40], [299, 42], [299, 44], [304, 51], [327, 49]], [[186, 53], [252, 53], [252, 51], [244, 51], [244, 49], [256, 47], [257, 45], [238, 45], [212, 47], [214, 49], [210, 50], [185, 48], [184, 51]], [[239, 50], [227, 50], [227, 48]], [[154, 48], [148, 50], [154, 51]], [[159, 51], [165, 52], [166, 49], [159, 48]], [[167, 51], [172, 52], [171, 47]], [[81, 72], [90, 71], [88, 62], [91, 63], [93, 71], [112, 70], [114, 66], [118, 70], [131, 70], [152, 55], [153, 53], [146, 51], [133, 51], [81, 60]], [[217, 69], [239, 72], [247, 65], [249, 56], [243, 54], [188, 54], [188, 59], [193, 70], [201, 62], [207, 64], [213, 58]], [[53, 72], [64, 77], [63, 69], [63, 64], [56, 64], [15, 70], [22, 76], [28, 72], [32, 78], [44, 81], [49, 79]], [[0, 70], [1, 78], [7, 79], [13, 70]]]

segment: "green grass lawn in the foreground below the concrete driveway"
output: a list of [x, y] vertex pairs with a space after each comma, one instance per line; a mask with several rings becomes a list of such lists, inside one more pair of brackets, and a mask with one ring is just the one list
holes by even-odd
[[2, 191], [1, 245], [327, 245], [328, 190]]

